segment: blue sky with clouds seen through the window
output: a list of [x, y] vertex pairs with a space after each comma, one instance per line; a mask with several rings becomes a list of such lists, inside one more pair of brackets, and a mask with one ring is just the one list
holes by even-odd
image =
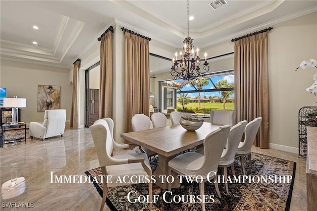
[[[211, 80], [214, 84], [217, 83], [217, 81], [225, 79], [227, 80], [228, 83], [233, 83], [233, 75], [226, 75], [226, 76], [217, 76], [217, 77], [212, 77]], [[213, 85], [211, 82], [209, 82], [209, 84], [207, 86], [205, 86], [203, 89], [212, 89]], [[195, 90], [194, 87], [192, 87], [190, 84], [186, 85], [185, 87], [183, 87], [181, 89], [181, 91], [187, 91], [187, 90]], [[179, 94], [177, 94], [177, 97], [179, 96]], [[197, 93], [189, 93], [187, 95], [188, 98], [195, 98], [198, 96], [198, 92]], [[201, 98], [203, 98], [204, 96], [206, 96], [206, 98], [208, 98], [209, 96], [216, 96], [216, 97], [220, 97], [220, 92], [201, 92], [200, 94]], [[230, 95], [230, 98], [233, 97], [233, 94]]]

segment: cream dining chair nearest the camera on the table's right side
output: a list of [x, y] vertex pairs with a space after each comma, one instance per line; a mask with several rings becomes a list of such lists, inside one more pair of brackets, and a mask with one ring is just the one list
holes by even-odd
[[[217, 169], [222, 150], [230, 132], [230, 125], [224, 125], [211, 132], [204, 140], [204, 155], [197, 152], [181, 154], [168, 162], [168, 174], [172, 171], [181, 175], [202, 176], [203, 182], [199, 183], [200, 195], [205, 194], [205, 182], [214, 180], [216, 192], [221, 198], [218, 183]], [[171, 184], [168, 184], [170, 191]], [[205, 202], [202, 201], [202, 210], [205, 211]]]

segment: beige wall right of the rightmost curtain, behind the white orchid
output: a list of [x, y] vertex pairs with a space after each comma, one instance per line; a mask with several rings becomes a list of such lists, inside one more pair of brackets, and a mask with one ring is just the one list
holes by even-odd
[[317, 12], [272, 27], [268, 35], [270, 143], [296, 151], [298, 110], [317, 106], [317, 97], [305, 91], [317, 69], [295, 72], [303, 60], [317, 59]]

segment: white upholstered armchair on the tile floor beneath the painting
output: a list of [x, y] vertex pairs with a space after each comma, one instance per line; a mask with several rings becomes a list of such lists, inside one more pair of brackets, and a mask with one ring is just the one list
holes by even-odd
[[44, 112], [43, 124], [39, 122], [30, 122], [30, 138], [43, 139], [53, 136], [63, 136], [66, 123], [65, 109], [52, 109]]

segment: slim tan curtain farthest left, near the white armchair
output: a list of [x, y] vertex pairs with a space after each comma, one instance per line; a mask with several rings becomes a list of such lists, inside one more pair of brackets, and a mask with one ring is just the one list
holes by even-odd
[[80, 67], [80, 59], [75, 61], [73, 70], [73, 95], [71, 101], [71, 113], [70, 113], [70, 127], [78, 129], [80, 125], [79, 118], [79, 84], [78, 74]]

